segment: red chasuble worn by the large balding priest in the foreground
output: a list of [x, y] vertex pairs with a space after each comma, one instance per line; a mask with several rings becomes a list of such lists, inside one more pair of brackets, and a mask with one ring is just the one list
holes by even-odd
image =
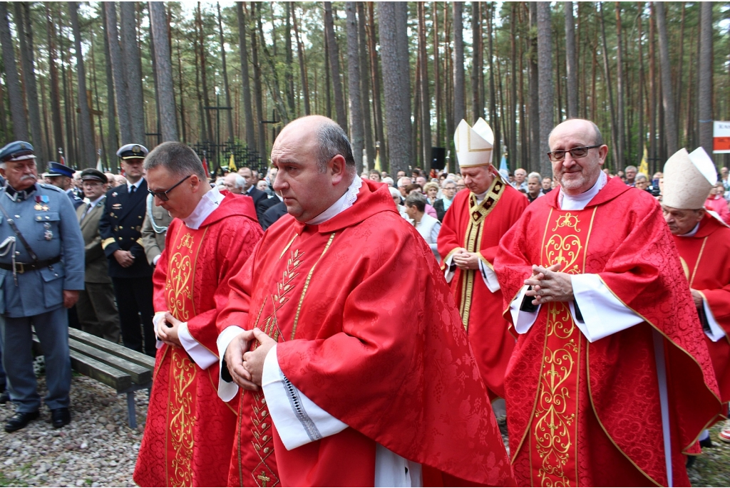
[[376, 443], [426, 483], [514, 483], [456, 303], [387, 188], [364, 180], [318, 226], [285, 215], [231, 280], [219, 326], [277, 339], [285, 376], [350, 427], [288, 451], [243, 392], [229, 484], [373, 486]]

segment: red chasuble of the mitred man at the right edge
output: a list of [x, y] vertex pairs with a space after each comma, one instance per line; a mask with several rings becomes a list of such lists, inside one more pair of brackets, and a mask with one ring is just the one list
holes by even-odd
[[[705, 336], [723, 402], [730, 401], [730, 228], [705, 214], [692, 237], [675, 236], [690, 288], [707, 301], [726, 336], [712, 342]], [[726, 413], [723, 409], [723, 414]]]

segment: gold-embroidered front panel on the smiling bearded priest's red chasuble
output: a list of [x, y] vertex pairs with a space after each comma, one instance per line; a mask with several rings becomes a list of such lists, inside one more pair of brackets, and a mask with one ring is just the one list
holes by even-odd
[[[542, 266], [581, 274], [596, 207], [580, 211], [551, 209], [540, 247]], [[545, 305], [543, 305], [545, 306]], [[548, 303], [545, 346], [529, 439], [532, 486], [577, 484], [577, 414], [585, 338], [566, 302]]]

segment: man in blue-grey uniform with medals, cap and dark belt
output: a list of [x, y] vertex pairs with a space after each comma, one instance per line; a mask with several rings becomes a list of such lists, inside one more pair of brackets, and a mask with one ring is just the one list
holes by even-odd
[[[84, 287], [84, 243], [74, 207], [53, 185], [38, 183], [33, 147], [12, 142], [0, 149], [0, 333], [3, 366], [15, 414], [6, 432], [39, 416], [31, 324], [45, 353], [53, 427], [71, 421], [69, 323], [66, 309]], [[64, 308], [65, 307], [65, 308]]]

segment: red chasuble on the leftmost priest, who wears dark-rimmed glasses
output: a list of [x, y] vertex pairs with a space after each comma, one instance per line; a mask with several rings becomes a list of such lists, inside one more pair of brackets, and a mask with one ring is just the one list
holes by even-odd
[[[199, 229], [170, 224], [153, 281], [155, 311], [188, 322], [188, 331], [218, 356], [215, 319], [228, 301], [228, 279], [261, 239], [253, 201], [228, 195]], [[218, 398], [218, 362], [205, 370], [185, 349], [157, 351], [147, 425], [134, 481], [142, 487], [226, 484], [236, 425]]]

